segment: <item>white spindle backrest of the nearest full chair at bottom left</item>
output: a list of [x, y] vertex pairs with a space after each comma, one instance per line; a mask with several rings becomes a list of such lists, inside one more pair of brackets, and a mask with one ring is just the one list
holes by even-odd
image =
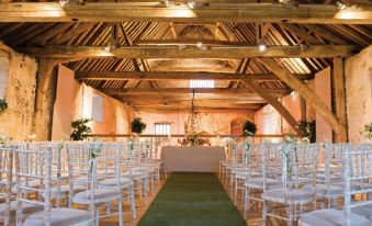
[[[25, 147], [31, 147], [30, 149]], [[22, 225], [22, 203], [44, 206], [44, 222], [50, 224], [52, 165], [55, 149], [45, 144], [20, 145], [14, 149], [16, 178], [16, 223]], [[34, 200], [30, 193], [43, 194]]]

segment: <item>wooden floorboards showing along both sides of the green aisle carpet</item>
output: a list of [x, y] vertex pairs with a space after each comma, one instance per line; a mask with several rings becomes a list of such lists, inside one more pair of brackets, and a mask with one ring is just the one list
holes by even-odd
[[[161, 187], [164, 185], [164, 183], [166, 182], [165, 177], [161, 178], [160, 180], [160, 185], [156, 187], [155, 189], [155, 194], [157, 194]], [[226, 192], [228, 193], [229, 197], [232, 199], [232, 201], [234, 200], [234, 195], [230, 192], [229, 188], [224, 187]], [[144, 216], [144, 214], [146, 213], [146, 210], [148, 208], [148, 206], [150, 205], [150, 202], [153, 202], [153, 200], [155, 199], [156, 195], [149, 195], [149, 204], [145, 205], [144, 200], [140, 200], [139, 197], [136, 196], [136, 208], [137, 208], [137, 218], [133, 219], [132, 218], [132, 212], [129, 208], [128, 203], [124, 203], [124, 226], [136, 226], [140, 219], [140, 217]], [[238, 199], [237, 199], [237, 208], [238, 211], [241, 213], [241, 215], [244, 215], [244, 199], [241, 196], [241, 194], [239, 193]], [[247, 214], [247, 225], [249, 226], [258, 226], [258, 225], [262, 225], [262, 213], [260, 211], [257, 210], [251, 210], [248, 212]], [[111, 217], [111, 218], [106, 218], [106, 219], [102, 219], [100, 221], [100, 225], [103, 226], [109, 226], [109, 225], [116, 225], [117, 224], [117, 217]], [[284, 224], [280, 224], [277, 221], [272, 221], [272, 219], [268, 219], [268, 224], [267, 225], [273, 225], [273, 226], [279, 226], [279, 225], [284, 225]], [[154, 225], [157, 226], [157, 225]]]

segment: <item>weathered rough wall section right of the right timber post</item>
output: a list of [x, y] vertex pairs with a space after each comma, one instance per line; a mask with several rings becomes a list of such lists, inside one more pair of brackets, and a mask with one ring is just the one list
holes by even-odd
[[349, 140], [363, 142], [365, 124], [372, 122], [372, 45], [345, 64]]

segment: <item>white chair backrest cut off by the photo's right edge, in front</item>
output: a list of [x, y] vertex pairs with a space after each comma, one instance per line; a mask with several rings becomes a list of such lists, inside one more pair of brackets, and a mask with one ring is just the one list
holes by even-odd
[[[372, 193], [370, 181], [372, 179], [372, 148], [370, 145], [361, 145], [357, 150], [343, 151], [343, 180], [345, 180], [345, 225], [350, 226], [351, 208], [372, 204], [372, 201], [363, 200], [351, 203], [353, 194]], [[351, 189], [351, 184], [358, 187]]]

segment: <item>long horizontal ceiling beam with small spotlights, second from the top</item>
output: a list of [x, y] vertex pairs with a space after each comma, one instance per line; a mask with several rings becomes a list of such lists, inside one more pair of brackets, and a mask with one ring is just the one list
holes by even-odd
[[19, 48], [19, 52], [45, 58], [227, 58], [243, 59], [257, 57], [278, 58], [334, 58], [349, 57], [357, 50], [352, 45], [311, 45], [311, 46], [221, 46], [200, 49], [179, 46], [128, 46], [106, 50], [103, 46], [58, 46]]

